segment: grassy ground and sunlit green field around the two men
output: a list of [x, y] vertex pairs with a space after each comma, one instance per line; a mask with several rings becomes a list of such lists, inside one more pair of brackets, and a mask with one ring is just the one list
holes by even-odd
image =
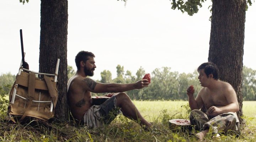
[[[85, 126], [72, 126], [70, 122], [54, 123], [53, 129], [49, 130], [43, 125], [32, 127], [30, 125], [6, 124], [1, 121], [0, 141], [99, 141], [99, 142], [193, 142], [194, 136], [187, 132], [173, 132], [169, 129], [168, 120], [175, 118], [187, 119], [187, 101], [138, 101], [134, 100], [140, 113], [146, 120], [154, 122], [153, 131], [144, 131], [136, 122], [119, 115], [110, 125], [102, 129], [88, 129]], [[220, 136], [212, 138], [205, 137], [210, 142], [254, 142], [256, 141], [256, 101], [245, 101], [243, 111], [246, 126], [241, 130], [241, 135]], [[2, 112], [5, 113], [5, 112]]]

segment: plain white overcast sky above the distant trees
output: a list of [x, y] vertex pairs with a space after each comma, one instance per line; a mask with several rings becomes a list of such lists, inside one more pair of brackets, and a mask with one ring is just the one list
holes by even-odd
[[[39, 68], [39, 0], [22, 5], [18, 0], [0, 4], [0, 73], [16, 74], [21, 61], [20, 29], [25, 60], [30, 69]], [[83, 0], [68, 1], [68, 65], [75, 66], [81, 51], [95, 54], [94, 79], [116, 66], [135, 75], [140, 66], [147, 73], [163, 66], [179, 73], [193, 72], [207, 62], [210, 38], [211, 1], [194, 16], [171, 9], [170, 0]], [[244, 65], [256, 69], [256, 3], [246, 12]], [[61, 63], [60, 63], [61, 64]]]

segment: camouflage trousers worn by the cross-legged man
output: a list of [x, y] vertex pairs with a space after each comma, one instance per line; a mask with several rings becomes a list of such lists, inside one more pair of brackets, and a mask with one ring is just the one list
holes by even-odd
[[212, 117], [206, 115], [201, 110], [194, 109], [190, 114], [190, 122], [191, 125], [195, 126], [196, 131], [209, 129], [212, 133], [218, 133], [229, 130], [238, 131], [239, 129], [239, 119], [233, 112]]

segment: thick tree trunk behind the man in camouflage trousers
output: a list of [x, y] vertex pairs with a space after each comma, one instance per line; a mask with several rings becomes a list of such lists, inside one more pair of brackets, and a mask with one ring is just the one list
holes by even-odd
[[[242, 66], [244, 55], [246, 0], [213, 0], [212, 24], [208, 61], [219, 67], [220, 80], [229, 82], [235, 89], [241, 124]], [[229, 98], [227, 98], [229, 99]]]

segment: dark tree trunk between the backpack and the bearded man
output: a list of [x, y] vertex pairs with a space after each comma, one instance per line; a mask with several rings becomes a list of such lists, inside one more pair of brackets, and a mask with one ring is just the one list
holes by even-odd
[[40, 26], [39, 72], [54, 73], [57, 59], [60, 59], [55, 117], [64, 121], [68, 118], [66, 99], [68, 0], [41, 0]]

